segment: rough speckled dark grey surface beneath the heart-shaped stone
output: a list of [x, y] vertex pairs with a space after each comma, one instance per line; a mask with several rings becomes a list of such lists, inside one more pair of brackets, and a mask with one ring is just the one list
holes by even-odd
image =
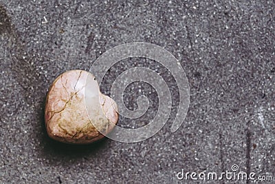
[[[275, 180], [274, 28], [274, 1], [1, 0], [0, 183], [199, 183], [175, 174], [230, 171], [232, 164]], [[181, 128], [169, 131], [179, 99], [173, 77], [154, 61], [126, 59], [111, 69], [103, 92], [127, 68], [157, 68], [173, 92], [164, 128], [140, 143], [50, 140], [43, 106], [56, 76], [89, 70], [100, 54], [132, 41], [155, 43], [179, 59], [191, 94]], [[135, 108], [148, 91], [144, 83], [130, 85], [126, 105]], [[154, 107], [136, 122], [152, 118]]]

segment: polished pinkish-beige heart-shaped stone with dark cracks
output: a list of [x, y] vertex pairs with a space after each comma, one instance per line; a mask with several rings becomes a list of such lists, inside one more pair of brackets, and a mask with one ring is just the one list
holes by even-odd
[[47, 134], [56, 141], [92, 143], [102, 139], [104, 135], [100, 132], [109, 133], [117, 122], [118, 106], [100, 92], [98, 82], [89, 72], [65, 72], [47, 93], [45, 125]]

